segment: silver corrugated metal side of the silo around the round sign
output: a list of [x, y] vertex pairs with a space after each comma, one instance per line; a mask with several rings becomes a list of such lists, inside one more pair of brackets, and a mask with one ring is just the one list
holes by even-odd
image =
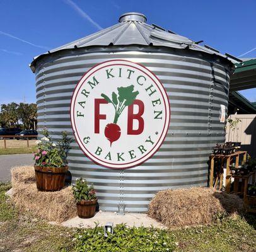
[[[100, 167], [72, 144], [69, 166], [73, 179], [83, 176], [95, 185], [100, 209], [144, 212], [159, 190], [207, 183], [207, 161], [216, 142], [224, 142], [220, 105], [228, 106], [229, 69], [186, 50], [122, 47], [117, 51], [62, 52], [37, 64], [38, 127], [59, 137], [72, 132], [69, 105], [73, 89], [90, 67], [110, 59], [125, 59], [148, 67], [161, 80], [170, 98], [171, 122], [160, 150], [136, 168], [115, 171]], [[97, 50], [97, 49], [93, 49]], [[113, 50], [113, 49], [112, 49]]]

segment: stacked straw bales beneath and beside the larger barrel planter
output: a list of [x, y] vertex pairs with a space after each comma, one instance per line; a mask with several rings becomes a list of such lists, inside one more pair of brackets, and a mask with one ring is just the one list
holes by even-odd
[[20, 210], [27, 210], [37, 217], [55, 222], [67, 221], [76, 216], [76, 202], [71, 186], [59, 192], [38, 192], [33, 166], [15, 168], [11, 174], [12, 200]]

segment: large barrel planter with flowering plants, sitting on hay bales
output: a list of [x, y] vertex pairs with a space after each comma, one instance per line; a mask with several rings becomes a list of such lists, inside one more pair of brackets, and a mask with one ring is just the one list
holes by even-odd
[[68, 169], [67, 153], [73, 141], [62, 132], [62, 139], [56, 144], [50, 138], [47, 129], [42, 131], [42, 139], [37, 140], [38, 151], [34, 153], [35, 179], [40, 191], [59, 191], [65, 185]]

